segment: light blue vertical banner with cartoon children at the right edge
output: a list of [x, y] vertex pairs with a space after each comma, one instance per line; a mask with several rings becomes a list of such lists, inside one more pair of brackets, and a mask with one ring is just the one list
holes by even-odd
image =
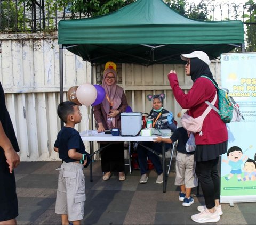
[[[222, 203], [256, 201], [256, 53], [221, 54], [221, 87], [244, 116], [227, 124], [228, 152], [221, 157]], [[255, 141], [255, 143], [254, 143]]]

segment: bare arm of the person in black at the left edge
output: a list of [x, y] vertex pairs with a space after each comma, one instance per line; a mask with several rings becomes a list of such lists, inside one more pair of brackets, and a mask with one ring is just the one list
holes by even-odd
[[12, 173], [13, 168], [15, 168], [19, 165], [20, 157], [17, 154], [17, 152], [15, 152], [15, 150], [11, 144], [11, 141], [6, 136], [1, 121], [0, 121], [0, 146], [4, 149], [4, 155], [6, 157], [6, 162], [9, 165], [10, 173]]

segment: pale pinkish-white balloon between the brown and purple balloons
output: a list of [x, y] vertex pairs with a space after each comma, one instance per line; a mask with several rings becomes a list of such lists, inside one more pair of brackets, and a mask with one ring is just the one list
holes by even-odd
[[79, 103], [89, 106], [97, 98], [97, 89], [89, 83], [80, 85], [76, 90], [76, 97]]

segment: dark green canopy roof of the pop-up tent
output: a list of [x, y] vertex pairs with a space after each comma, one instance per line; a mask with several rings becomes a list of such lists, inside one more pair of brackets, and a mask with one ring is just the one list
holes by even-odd
[[138, 0], [106, 15], [59, 22], [59, 44], [91, 63], [178, 64], [182, 53], [202, 50], [215, 58], [241, 43], [242, 21], [188, 19], [162, 0]]

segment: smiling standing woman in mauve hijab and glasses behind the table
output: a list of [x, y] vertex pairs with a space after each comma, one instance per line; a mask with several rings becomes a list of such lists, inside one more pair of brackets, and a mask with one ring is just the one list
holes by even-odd
[[[108, 63], [106, 63], [107, 66]], [[104, 70], [102, 87], [106, 91], [106, 98], [102, 103], [94, 106], [94, 118], [98, 124], [98, 132], [111, 130], [112, 128], [121, 129], [121, 116], [125, 112], [127, 99], [122, 87], [116, 84], [117, 73], [116, 65], [111, 62]], [[109, 142], [107, 143], [109, 144]], [[100, 148], [107, 144], [100, 144]], [[118, 179], [125, 180], [124, 173], [124, 143], [113, 142], [110, 146], [104, 148], [101, 152], [101, 169], [104, 173], [103, 180], [109, 180], [111, 172], [118, 172]]]

